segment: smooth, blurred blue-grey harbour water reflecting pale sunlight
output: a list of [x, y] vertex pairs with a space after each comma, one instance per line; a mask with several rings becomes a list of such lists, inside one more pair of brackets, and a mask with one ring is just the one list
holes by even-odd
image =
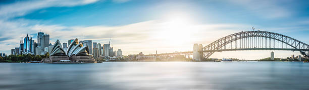
[[309, 89], [309, 63], [0, 63], [0, 89]]

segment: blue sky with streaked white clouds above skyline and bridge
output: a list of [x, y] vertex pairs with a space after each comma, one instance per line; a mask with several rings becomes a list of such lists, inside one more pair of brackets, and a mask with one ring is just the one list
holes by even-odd
[[[241, 31], [256, 29], [309, 43], [307, 0], [1, 0], [0, 52], [19, 47], [37, 32], [59, 39], [111, 39], [124, 55], [192, 51]], [[259, 59], [271, 50], [215, 52], [215, 58]], [[298, 51], [275, 50], [285, 58]]]

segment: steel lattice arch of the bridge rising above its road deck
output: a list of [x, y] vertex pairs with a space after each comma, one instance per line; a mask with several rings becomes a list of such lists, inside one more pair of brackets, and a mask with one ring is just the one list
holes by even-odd
[[[280, 47], [281, 43], [282, 47]], [[275, 46], [276, 44], [277, 48]], [[214, 52], [231, 50], [296, 50], [308, 57], [305, 51], [309, 51], [309, 45], [279, 33], [269, 31], [242, 31], [222, 37], [204, 46], [202, 51], [199, 52], [203, 53], [204, 58], [207, 59]]]

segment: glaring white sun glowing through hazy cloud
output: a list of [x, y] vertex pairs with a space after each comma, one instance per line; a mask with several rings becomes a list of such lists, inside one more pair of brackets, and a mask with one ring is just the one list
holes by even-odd
[[182, 45], [190, 41], [193, 35], [193, 21], [188, 15], [178, 13], [170, 14], [160, 31], [160, 36], [165, 40], [166, 44]]

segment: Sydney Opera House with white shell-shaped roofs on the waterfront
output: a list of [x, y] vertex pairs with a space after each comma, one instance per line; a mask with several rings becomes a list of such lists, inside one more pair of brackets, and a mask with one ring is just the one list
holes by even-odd
[[57, 40], [50, 49], [50, 56], [45, 59], [46, 63], [96, 63], [92, 54], [89, 54], [89, 47], [79, 43], [74, 39], [67, 50], [65, 50], [60, 41]]

